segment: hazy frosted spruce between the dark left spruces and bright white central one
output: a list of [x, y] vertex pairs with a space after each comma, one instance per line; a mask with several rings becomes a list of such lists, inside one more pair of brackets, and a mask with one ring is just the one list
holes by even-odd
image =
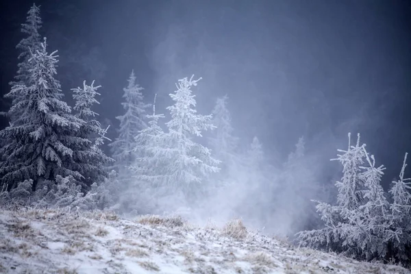
[[142, 90], [144, 88], [136, 83], [134, 71], [132, 71], [127, 81], [128, 86], [123, 88], [125, 102], [121, 103], [125, 109], [125, 114], [116, 117], [120, 121], [119, 137], [110, 143], [112, 158], [116, 160], [114, 169], [120, 175], [127, 169], [126, 166], [132, 164], [136, 159], [136, 155], [132, 151], [136, 147], [134, 138], [141, 129], [147, 127], [145, 123], [145, 109], [150, 106], [143, 102]]

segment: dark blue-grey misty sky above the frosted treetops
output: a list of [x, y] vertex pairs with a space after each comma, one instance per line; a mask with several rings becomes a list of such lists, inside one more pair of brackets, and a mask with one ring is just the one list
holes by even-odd
[[[216, 97], [227, 94], [236, 134], [245, 144], [259, 136], [269, 155], [284, 157], [304, 135], [327, 166], [336, 148], [347, 146], [347, 133], [360, 132], [387, 166], [389, 181], [403, 153], [411, 152], [410, 1], [36, 4], [49, 51], [59, 50], [67, 101], [70, 88], [96, 79], [103, 86], [99, 112], [113, 126], [132, 69], [147, 101], [157, 92], [165, 114], [174, 83], [195, 74], [203, 77], [199, 111], [210, 112]], [[16, 0], [0, 6], [2, 95], [16, 71], [14, 47], [30, 5]]]

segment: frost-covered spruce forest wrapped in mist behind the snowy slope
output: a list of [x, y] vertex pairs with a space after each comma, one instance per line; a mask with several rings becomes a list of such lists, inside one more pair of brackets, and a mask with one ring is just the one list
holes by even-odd
[[[227, 95], [216, 99], [209, 114], [197, 112], [197, 88], [207, 81], [197, 75], [176, 79], [169, 106], [159, 110], [156, 97], [148, 97], [130, 71], [119, 84], [119, 127], [105, 127], [95, 112], [101, 86], [84, 79], [62, 90], [58, 51], [49, 48], [53, 38], [43, 37], [41, 27], [40, 7], [32, 5], [16, 45], [18, 70], [5, 95], [12, 106], [1, 113], [9, 121], [0, 131], [3, 208], [177, 212], [199, 222], [239, 216], [296, 246], [410, 267], [407, 153], [384, 191], [385, 167], [360, 134], [348, 134], [347, 147], [332, 159], [340, 179], [332, 186], [317, 182], [303, 136], [284, 164], [274, 164], [258, 136], [240, 145]], [[116, 138], [110, 140], [108, 131]]]

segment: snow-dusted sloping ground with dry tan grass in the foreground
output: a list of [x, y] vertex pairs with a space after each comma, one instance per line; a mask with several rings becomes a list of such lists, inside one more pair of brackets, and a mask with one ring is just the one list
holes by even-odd
[[1, 210], [0, 273], [410, 273], [296, 249], [241, 221], [195, 227], [178, 216]]

